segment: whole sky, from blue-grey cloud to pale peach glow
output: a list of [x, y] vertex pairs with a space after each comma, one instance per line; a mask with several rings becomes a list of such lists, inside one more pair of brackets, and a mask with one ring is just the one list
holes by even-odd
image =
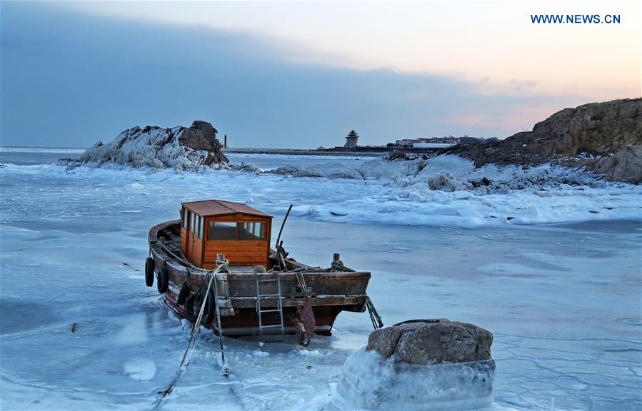
[[641, 30], [635, 1], [1, 1], [0, 145], [194, 120], [234, 147], [506, 138], [641, 96]]

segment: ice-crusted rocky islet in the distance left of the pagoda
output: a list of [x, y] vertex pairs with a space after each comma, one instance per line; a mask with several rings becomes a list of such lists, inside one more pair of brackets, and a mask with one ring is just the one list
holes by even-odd
[[111, 143], [99, 141], [78, 160], [63, 159], [71, 166], [122, 164], [136, 168], [228, 168], [229, 160], [216, 139], [216, 128], [206, 121], [191, 127], [139, 126], [119, 134]]

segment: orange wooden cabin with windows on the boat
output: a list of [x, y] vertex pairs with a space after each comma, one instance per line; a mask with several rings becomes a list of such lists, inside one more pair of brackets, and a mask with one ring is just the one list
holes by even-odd
[[196, 267], [211, 270], [216, 255], [230, 265], [263, 265], [270, 269], [272, 216], [230, 201], [182, 203], [181, 252]]

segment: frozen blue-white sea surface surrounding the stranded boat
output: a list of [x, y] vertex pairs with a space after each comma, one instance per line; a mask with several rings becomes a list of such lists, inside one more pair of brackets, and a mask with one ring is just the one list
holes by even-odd
[[[490, 330], [492, 410], [642, 407], [639, 187], [438, 193], [431, 203], [373, 179], [54, 164], [80, 152], [0, 148], [1, 410], [154, 408], [189, 330], [144, 285], [147, 231], [178, 218], [181, 201], [203, 198], [251, 203], [275, 225], [294, 203], [286, 249], [321, 266], [340, 252], [371, 270], [368, 293], [386, 325], [449, 318]], [[366, 161], [230, 157], [264, 169]], [[367, 314], [342, 313], [333, 335], [307, 350], [226, 338], [230, 377], [218, 338], [204, 333], [161, 409], [326, 409], [371, 328]]]

